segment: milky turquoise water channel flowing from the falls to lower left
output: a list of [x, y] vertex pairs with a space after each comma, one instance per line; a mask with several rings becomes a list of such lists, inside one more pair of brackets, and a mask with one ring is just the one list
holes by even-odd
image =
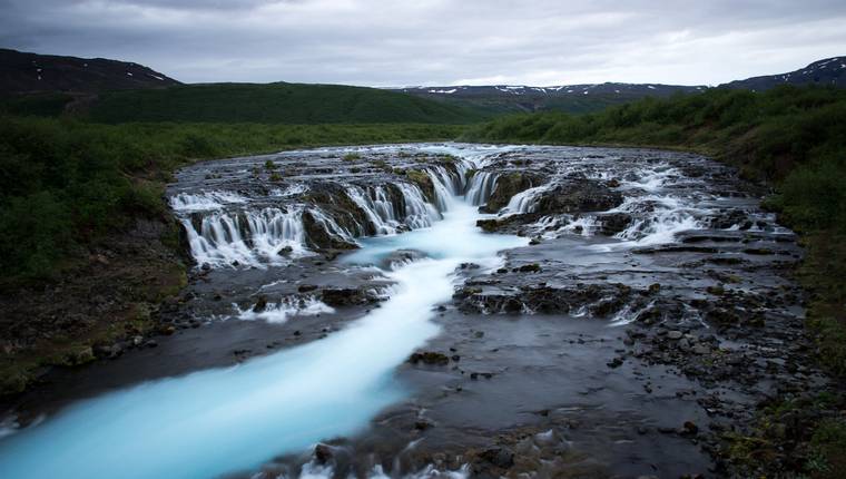
[[210, 478], [366, 428], [407, 394], [393, 370], [434, 336], [432, 309], [453, 293], [463, 262], [488, 267], [527, 238], [482, 234], [452, 198], [433, 227], [372, 238], [347, 261], [397, 248], [430, 257], [387, 272], [391, 299], [324, 340], [238, 366], [144, 383], [81, 401], [0, 440], [0, 478]]

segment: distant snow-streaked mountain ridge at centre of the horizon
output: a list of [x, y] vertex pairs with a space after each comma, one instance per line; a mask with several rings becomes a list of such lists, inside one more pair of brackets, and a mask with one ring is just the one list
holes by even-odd
[[468, 106], [488, 114], [563, 110], [596, 111], [642, 97], [668, 97], [676, 92], [696, 92], [705, 86], [660, 84], [582, 84], [552, 87], [512, 85], [406, 87], [393, 91]]

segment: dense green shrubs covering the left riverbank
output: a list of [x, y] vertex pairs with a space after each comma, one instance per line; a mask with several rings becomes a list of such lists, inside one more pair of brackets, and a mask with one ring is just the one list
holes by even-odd
[[433, 125], [97, 125], [0, 118], [0, 267], [49, 277], [68, 253], [134, 218], [161, 215], [164, 184], [203, 158], [317, 145], [453, 138]]

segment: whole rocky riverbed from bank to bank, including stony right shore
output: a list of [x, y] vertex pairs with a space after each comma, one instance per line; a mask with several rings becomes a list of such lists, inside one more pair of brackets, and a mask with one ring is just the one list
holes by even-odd
[[[726, 437], [758, 404], [834, 388], [801, 330], [801, 250], [764, 193], [708, 158], [640, 149], [424, 144], [195, 165], [168, 190], [196, 264], [156, 313], [166, 335], [106, 345], [111, 361], [8, 404], [0, 454], [19, 461], [0, 471], [51, 452], [65, 468], [51, 440], [73, 443], [80, 410], [156, 398], [127, 419], [155, 423], [196, 416], [167, 402], [205, 391], [198, 403], [244, 431], [165, 434], [170, 449], [151, 451], [173, 477], [739, 475]], [[288, 395], [295, 373], [307, 395]], [[258, 452], [215, 458], [237, 441]]]

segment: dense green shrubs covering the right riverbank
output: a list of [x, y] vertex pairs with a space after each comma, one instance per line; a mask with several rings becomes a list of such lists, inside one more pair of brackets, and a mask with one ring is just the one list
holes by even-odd
[[[803, 234], [807, 246], [799, 280], [809, 291], [808, 331], [820, 362], [846, 377], [846, 90], [779, 87], [766, 92], [709, 90], [647, 98], [602, 113], [535, 114], [501, 118], [463, 138], [492, 143], [637, 145], [707, 153], [736, 165], [776, 193], [765, 206]], [[814, 404], [807, 408], [816, 408]], [[764, 417], [764, 421], [767, 416]], [[813, 477], [843, 477], [843, 419], [810, 420], [807, 461]], [[751, 441], [751, 442], [749, 442]], [[761, 441], [766, 434], [735, 444]], [[758, 447], [756, 446], [756, 447]], [[739, 448], [738, 450], [744, 449]], [[739, 454], [742, 456], [742, 454]]]

